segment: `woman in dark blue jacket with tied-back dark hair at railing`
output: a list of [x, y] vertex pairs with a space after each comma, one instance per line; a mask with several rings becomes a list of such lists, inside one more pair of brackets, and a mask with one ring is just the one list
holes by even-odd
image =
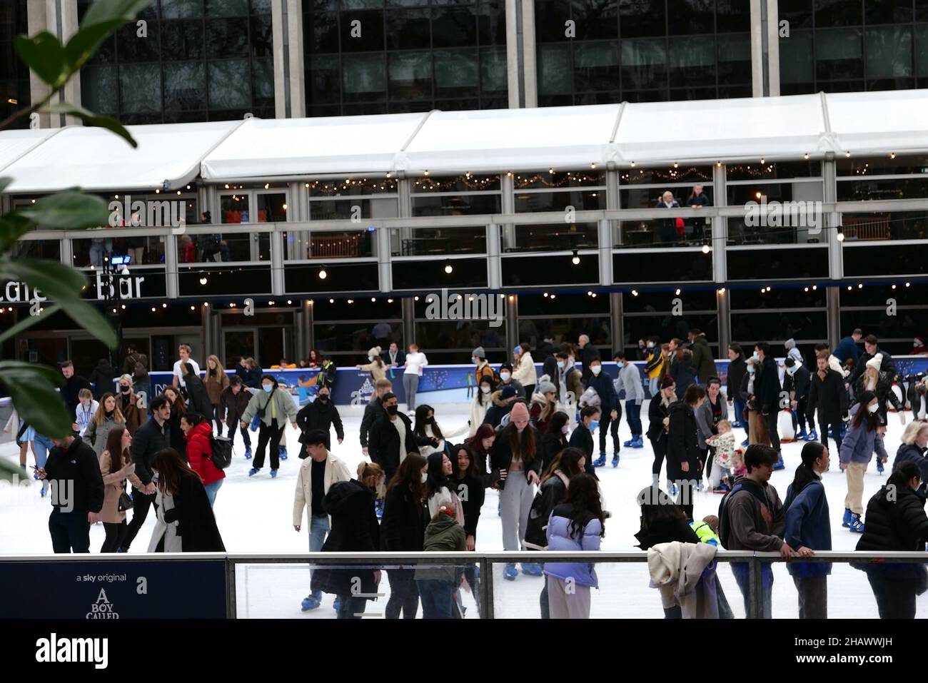
[[[821, 483], [822, 472], [828, 470], [828, 448], [816, 441], [806, 442], [802, 459], [786, 489], [783, 540], [796, 548], [799, 557], [807, 558], [815, 550], [831, 550], [828, 498]], [[790, 562], [786, 569], [799, 593], [799, 618], [827, 619], [831, 562]]]

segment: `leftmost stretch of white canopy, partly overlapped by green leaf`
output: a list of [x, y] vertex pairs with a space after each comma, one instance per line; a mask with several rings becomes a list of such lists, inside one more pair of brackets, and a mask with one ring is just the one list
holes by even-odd
[[[69, 126], [4, 169], [13, 177], [10, 193], [151, 190], [183, 187], [200, 174], [200, 161], [238, 121], [161, 123], [128, 126], [132, 148], [103, 128]], [[2, 161], [0, 161], [2, 162]]]

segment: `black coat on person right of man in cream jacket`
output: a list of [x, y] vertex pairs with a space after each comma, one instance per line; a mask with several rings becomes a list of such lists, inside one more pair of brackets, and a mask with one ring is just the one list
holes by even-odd
[[[395, 432], [395, 430], [393, 430]], [[374, 512], [376, 494], [356, 480], [333, 483], [326, 494], [324, 506], [331, 517], [331, 531], [323, 552], [355, 552], [367, 554], [380, 549], [380, 526]], [[354, 567], [313, 572], [311, 590], [321, 590], [337, 596], [350, 596], [354, 578], [361, 581], [362, 593], [377, 592], [374, 570]]]

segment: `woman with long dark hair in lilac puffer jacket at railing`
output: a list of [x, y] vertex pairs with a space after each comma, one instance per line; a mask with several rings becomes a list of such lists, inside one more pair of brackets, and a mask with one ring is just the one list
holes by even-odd
[[[582, 472], [571, 479], [564, 502], [551, 510], [548, 549], [599, 550], [606, 515], [596, 477]], [[599, 587], [593, 562], [546, 562], [548, 608], [553, 619], [588, 619], [589, 589]]]

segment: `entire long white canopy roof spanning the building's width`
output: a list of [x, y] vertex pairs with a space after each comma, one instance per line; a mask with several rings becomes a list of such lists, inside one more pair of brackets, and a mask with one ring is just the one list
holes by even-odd
[[928, 90], [0, 133], [9, 191], [928, 151]]

